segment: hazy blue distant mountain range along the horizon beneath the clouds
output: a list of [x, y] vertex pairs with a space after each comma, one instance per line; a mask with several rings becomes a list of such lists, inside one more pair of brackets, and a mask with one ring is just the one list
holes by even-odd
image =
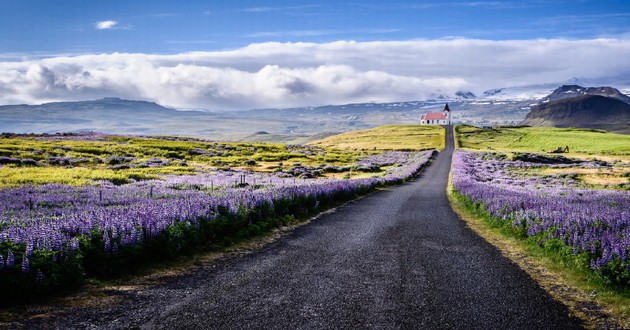
[[[231, 112], [182, 111], [153, 102], [104, 98], [80, 102], [0, 106], [0, 132], [98, 131], [113, 134], [185, 135], [217, 140], [304, 143], [313, 137], [349, 130], [392, 124], [418, 124], [421, 115], [441, 111], [446, 102], [452, 110], [455, 123], [477, 126], [515, 125], [525, 119], [525, 123], [529, 125], [580, 124], [581, 122], [571, 121], [573, 119], [560, 119], [560, 115], [548, 115], [551, 111], [549, 109], [580, 108], [555, 102], [572, 100], [574, 96], [595, 94], [619, 101], [628, 100], [626, 95], [613, 88], [583, 88], [573, 84], [564, 85], [556, 90], [550, 88], [550, 85], [499, 88], [486, 91], [482, 96], [460, 91], [454, 95], [440, 95], [424, 101]], [[580, 102], [584, 102], [584, 107], [599, 107], [608, 101]], [[528, 116], [530, 109], [532, 113]], [[614, 117], [612, 114], [610, 118], [602, 117], [603, 119], [589, 116], [582, 117], [590, 124], [598, 125], [600, 123], [603, 125], [603, 122]], [[614, 120], [625, 123], [623, 113], [615, 118], [617, 119]]]

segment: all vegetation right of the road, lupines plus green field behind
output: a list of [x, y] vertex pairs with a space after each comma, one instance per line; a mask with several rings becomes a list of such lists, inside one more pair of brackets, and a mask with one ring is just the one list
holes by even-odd
[[[529, 127], [455, 132], [464, 148], [453, 158], [456, 208], [630, 326], [630, 136]], [[570, 152], [549, 152], [565, 145]]]

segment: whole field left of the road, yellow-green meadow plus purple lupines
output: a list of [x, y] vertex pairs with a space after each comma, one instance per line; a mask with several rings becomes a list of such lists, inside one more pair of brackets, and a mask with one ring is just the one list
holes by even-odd
[[[223, 246], [404, 182], [433, 151], [174, 137], [0, 139], [3, 299]], [[5, 301], [6, 302], [6, 301]]]

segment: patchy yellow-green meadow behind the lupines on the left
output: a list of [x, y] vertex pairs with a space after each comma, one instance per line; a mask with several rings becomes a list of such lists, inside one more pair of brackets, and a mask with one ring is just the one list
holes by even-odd
[[157, 179], [160, 175], [228, 168], [274, 172], [290, 170], [296, 164], [343, 168], [372, 153], [180, 137], [3, 135], [0, 188], [47, 183], [79, 186], [99, 180], [125, 184]]

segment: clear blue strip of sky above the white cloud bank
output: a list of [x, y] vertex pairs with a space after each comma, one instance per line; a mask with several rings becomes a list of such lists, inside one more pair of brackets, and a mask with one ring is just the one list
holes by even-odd
[[[1, 0], [0, 53], [225, 50], [266, 41], [628, 35], [630, 1]], [[98, 22], [105, 23], [98, 29]], [[115, 22], [115, 23], [114, 23]]]

